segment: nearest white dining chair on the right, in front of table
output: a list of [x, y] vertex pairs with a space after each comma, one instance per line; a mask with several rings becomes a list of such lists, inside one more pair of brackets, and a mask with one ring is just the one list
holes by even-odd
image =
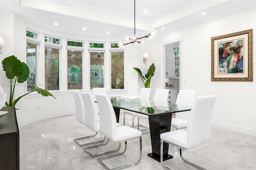
[[184, 162], [204, 170], [204, 168], [185, 160], [182, 150], [194, 148], [210, 141], [211, 118], [215, 100], [216, 96], [214, 95], [197, 97], [188, 117], [187, 130], [179, 129], [160, 134], [160, 162], [164, 169], [169, 169], [163, 162], [163, 142], [166, 142], [180, 148], [180, 157]]

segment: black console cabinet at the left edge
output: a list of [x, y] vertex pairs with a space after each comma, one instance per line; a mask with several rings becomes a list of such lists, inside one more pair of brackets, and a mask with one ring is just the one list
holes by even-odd
[[3, 107], [8, 111], [0, 118], [0, 170], [20, 169], [20, 133], [14, 107]]

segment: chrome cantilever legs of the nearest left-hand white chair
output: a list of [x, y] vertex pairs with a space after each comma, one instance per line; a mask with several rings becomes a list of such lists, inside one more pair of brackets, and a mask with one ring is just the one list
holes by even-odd
[[[114, 158], [116, 156], [120, 156], [122, 154], [124, 154], [124, 152], [126, 152], [126, 148], [127, 148], [127, 141], [125, 141], [125, 145], [124, 145], [124, 151], [123, 152], [120, 152], [120, 153], [117, 153], [117, 154], [113, 154], [113, 155], [110, 155], [110, 156], [106, 156], [106, 157], [103, 157], [103, 158], [98, 158], [98, 162], [107, 170], [110, 170], [103, 162], [102, 160], [106, 160], [106, 159], [109, 159], [109, 158]], [[140, 136], [140, 158], [138, 161], [136, 162], [132, 162], [130, 164], [126, 164], [124, 166], [119, 166], [117, 168], [113, 168], [111, 170], [121, 170], [121, 169], [124, 169], [124, 168], [128, 168], [130, 166], [134, 166], [134, 165], [137, 165], [138, 163], [140, 163], [142, 159], [142, 140], [141, 140], [141, 136]]]

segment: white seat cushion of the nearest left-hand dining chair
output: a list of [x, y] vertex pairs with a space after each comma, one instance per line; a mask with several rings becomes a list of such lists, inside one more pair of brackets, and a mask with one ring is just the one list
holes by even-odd
[[116, 135], [114, 136], [113, 141], [129, 140], [130, 138], [136, 138], [142, 135], [140, 130], [131, 128], [128, 126], [116, 127]]

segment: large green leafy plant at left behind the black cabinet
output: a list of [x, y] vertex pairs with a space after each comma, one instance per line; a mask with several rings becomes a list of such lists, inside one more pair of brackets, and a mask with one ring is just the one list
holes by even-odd
[[[14, 99], [14, 90], [16, 87], [16, 83], [24, 83], [29, 76], [29, 68], [26, 63], [21, 62], [17, 57], [14, 55], [11, 55], [9, 57], [6, 57], [2, 61], [2, 67], [4, 68], [5, 75], [8, 79], [10, 79], [10, 100], [9, 103], [6, 101], [5, 105], [6, 106], [15, 106], [16, 103], [25, 95], [32, 93], [36, 91], [38, 94], [41, 94], [43, 96], [52, 96], [54, 97], [50, 92], [48, 92], [45, 89], [41, 89], [39, 87], [33, 86], [31, 91], [18, 97], [17, 99]], [[14, 79], [14, 82], [12, 82]], [[54, 97], [54, 99], [56, 99]]]

